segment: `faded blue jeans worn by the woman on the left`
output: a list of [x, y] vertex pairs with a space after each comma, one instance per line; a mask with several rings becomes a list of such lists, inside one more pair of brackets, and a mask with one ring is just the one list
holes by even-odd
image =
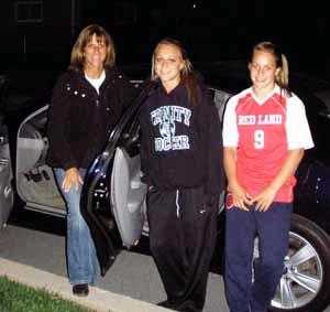
[[[67, 206], [67, 269], [72, 284], [95, 283], [97, 275], [96, 250], [89, 228], [80, 214], [81, 185], [63, 192], [65, 171], [55, 168], [55, 176]], [[86, 170], [79, 169], [84, 180]]]

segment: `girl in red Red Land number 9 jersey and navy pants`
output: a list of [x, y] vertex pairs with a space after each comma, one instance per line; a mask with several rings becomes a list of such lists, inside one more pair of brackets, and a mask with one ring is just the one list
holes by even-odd
[[[294, 174], [304, 150], [314, 147], [304, 104], [288, 90], [287, 60], [277, 46], [256, 44], [249, 69], [252, 87], [229, 100], [222, 132], [231, 312], [265, 312], [271, 304], [288, 249]], [[260, 258], [252, 262], [256, 235]]]

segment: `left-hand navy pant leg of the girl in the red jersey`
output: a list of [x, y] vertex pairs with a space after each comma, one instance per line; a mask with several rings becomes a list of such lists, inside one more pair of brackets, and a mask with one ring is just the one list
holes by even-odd
[[255, 222], [252, 212], [226, 211], [226, 294], [231, 312], [250, 312]]

